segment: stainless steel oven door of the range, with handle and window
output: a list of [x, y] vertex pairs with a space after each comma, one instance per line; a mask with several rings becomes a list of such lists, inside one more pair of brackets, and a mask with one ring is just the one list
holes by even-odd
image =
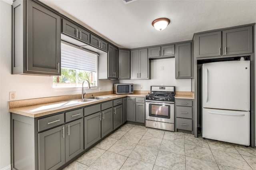
[[174, 104], [146, 101], [146, 120], [174, 123]]

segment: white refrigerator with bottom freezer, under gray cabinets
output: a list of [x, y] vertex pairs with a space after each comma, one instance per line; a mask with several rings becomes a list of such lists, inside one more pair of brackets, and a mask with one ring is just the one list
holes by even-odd
[[250, 145], [250, 61], [202, 65], [202, 137]]

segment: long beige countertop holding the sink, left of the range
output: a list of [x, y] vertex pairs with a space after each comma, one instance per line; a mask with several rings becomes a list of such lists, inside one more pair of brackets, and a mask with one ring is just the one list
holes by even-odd
[[[91, 105], [91, 104], [106, 102], [108, 100], [123, 98], [123, 97], [126, 97], [126, 96], [145, 97], [146, 95], [147, 94], [144, 94], [144, 93], [107, 94], [107, 95], [100, 96], [100, 97], [108, 97], [106, 99], [96, 100], [96, 101], [86, 102], [86, 103], [79, 102], [78, 100], [73, 99], [73, 100], [68, 100], [68, 101], [49, 102], [49, 103], [45, 103], [45, 104], [37, 104], [37, 105], [25, 106], [25, 107], [14, 107], [14, 106], [10, 107], [10, 104], [9, 104], [9, 108], [10, 108], [9, 112], [35, 118], [35, 117], [50, 115], [52, 113], [58, 113], [58, 112], [66, 111], [66, 110], [69, 110], [69, 109], [75, 109], [75, 108], [78, 108], [78, 107], [88, 106], [88, 105]], [[16, 102], [16, 103], [18, 103], [18, 102]], [[17, 105], [17, 106], [19, 106], [19, 105]]]

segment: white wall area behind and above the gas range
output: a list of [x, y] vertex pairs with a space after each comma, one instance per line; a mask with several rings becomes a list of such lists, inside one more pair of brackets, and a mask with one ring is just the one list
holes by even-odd
[[[164, 67], [164, 70], [162, 70]], [[151, 80], [120, 80], [133, 83], [134, 90], [150, 90], [150, 86], [176, 86], [176, 91], [191, 91], [191, 79], [175, 79], [175, 59], [151, 60]]]

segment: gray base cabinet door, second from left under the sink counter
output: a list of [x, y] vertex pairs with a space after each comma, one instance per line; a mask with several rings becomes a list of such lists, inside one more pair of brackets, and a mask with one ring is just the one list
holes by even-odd
[[72, 121], [66, 127], [66, 162], [84, 150], [83, 119]]

